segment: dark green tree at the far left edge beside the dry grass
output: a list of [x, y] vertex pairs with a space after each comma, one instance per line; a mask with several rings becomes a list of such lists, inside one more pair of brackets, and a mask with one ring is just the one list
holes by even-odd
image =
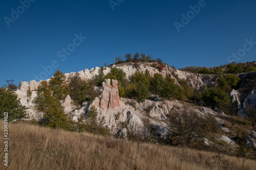
[[8, 112], [8, 120], [27, 118], [26, 109], [14, 91], [6, 86], [0, 88], [0, 118], [4, 118], [5, 112]]

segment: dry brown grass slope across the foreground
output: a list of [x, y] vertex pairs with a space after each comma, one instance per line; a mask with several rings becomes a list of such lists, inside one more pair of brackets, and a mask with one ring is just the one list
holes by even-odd
[[9, 166], [0, 169], [255, 169], [256, 161], [217, 153], [110, 139], [88, 133], [9, 123]]

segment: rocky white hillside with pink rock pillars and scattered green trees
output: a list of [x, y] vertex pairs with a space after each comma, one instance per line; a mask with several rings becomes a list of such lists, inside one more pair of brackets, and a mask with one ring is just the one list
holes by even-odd
[[27, 107], [25, 120], [41, 126], [248, 160], [256, 157], [255, 80], [255, 71], [209, 75], [161, 62], [123, 61], [65, 74], [57, 70], [13, 92]]

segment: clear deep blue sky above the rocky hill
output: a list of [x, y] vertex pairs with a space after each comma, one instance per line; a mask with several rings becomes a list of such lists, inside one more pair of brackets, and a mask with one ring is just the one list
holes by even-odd
[[[76, 72], [111, 64], [116, 56], [137, 51], [176, 68], [227, 64], [238, 51], [243, 57], [229, 59], [256, 60], [256, 44], [243, 50], [245, 39], [256, 42], [255, 0], [113, 0], [112, 6], [109, 0], [30, 0], [23, 3], [27, 9], [19, 1], [0, 4], [0, 86], [6, 79], [17, 84], [34, 75], [50, 78], [56, 69]], [[183, 18], [178, 32], [174, 23], [181, 26], [181, 14], [191, 19]], [[87, 37], [82, 42], [75, 39], [80, 33]], [[65, 54], [68, 47], [72, 52]]]

